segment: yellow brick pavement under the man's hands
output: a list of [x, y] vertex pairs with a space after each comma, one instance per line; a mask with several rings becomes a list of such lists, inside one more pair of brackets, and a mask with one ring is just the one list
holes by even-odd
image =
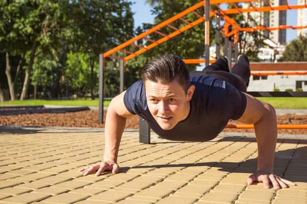
[[[0, 203], [307, 203], [307, 137], [279, 138], [275, 173], [287, 189], [246, 186], [257, 165], [251, 136], [176, 142], [125, 132], [120, 173], [82, 176], [103, 158], [104, 133], [68, 130], [1, 133]], [[305, 138], [305, 139], [303, 139]]]

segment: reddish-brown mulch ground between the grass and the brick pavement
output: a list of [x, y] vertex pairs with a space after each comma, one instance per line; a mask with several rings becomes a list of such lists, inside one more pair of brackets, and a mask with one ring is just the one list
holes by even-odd
[[[105, 121], [104, 111], [104, 121]], [[238, 124], [237, 121], [229, 121], [228, 124]], [[278, 124], [307, 124], [307, 115], [278, 115]], [[70, 113], [43, 113], [0, 116], [2, 125], [31, 125], [31, 126], [65, 126], [65, 127], [104, 127], [104, 123], [98, 123], [98, 111], [79, 111]], [[127, 129], [139, 128], [139, 117], [127, 119]], [[269, 127], [268, 127], [269, 128]], [[225, 129], [224, 132], [251, 133], [254, 129]], [[307, 134], [307, 129], [279, 129], [282, 134]]]

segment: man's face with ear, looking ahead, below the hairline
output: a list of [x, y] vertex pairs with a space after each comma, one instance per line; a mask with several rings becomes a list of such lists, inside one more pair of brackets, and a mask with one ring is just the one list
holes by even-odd
[[194, 86], [190, 86], [186, 94], [177, 80], [168, 84], [147, 80], [145, 92], [151, 115], [163, 130], [170, 130], [188, 116]]

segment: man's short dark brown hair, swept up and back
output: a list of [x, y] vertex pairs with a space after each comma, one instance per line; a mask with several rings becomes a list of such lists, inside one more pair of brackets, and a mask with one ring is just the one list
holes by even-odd
[[150, 61], [142, 70], [141, 78], [144, 85], [146, 80], [162, 84], [178, 80], [186, 94], [190, 86], [186, 64], [180, 57], [174, 55], [162, 55]]

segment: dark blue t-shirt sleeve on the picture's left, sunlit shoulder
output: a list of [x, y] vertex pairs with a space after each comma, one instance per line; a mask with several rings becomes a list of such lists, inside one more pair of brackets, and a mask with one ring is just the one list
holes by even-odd
[[136, 97], [137, 97], [137, 93], [140, 92], [139, 89], [141, 89], [142, 86], [143, 86], [143, 82], [140, 80], [134, 83], [132, 86], [130, 86], [124, 95], [125, 107], [131, 114], [137, 115]]

